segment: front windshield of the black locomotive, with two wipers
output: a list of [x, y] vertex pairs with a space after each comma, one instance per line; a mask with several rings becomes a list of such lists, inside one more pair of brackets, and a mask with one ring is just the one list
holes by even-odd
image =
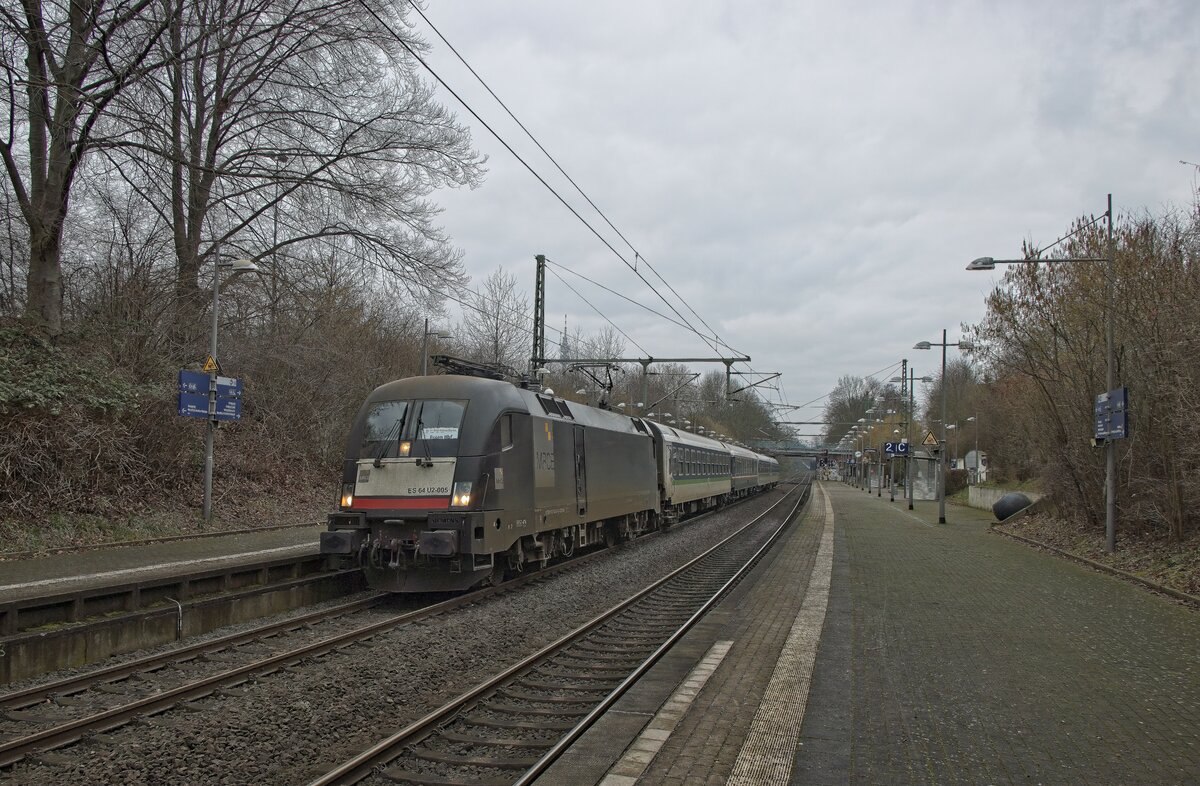
[[380, 401], [362, 426], [360, 458], [455, 456], [464, 400]]

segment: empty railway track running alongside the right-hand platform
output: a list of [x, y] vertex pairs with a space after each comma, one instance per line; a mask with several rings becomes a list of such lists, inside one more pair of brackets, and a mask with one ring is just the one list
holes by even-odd
[[503, 673], [331, 769], [308, 786], [373, 774], [421, 786], [529, 784], [600, 718], [764, 554], [749, 534], [785, 497], [690, 563]]

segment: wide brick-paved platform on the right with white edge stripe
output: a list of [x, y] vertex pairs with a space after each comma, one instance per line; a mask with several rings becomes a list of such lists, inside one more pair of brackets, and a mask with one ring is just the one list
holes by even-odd
[[1200, 611], [822, 482], [536, 782], [1200, 784]]

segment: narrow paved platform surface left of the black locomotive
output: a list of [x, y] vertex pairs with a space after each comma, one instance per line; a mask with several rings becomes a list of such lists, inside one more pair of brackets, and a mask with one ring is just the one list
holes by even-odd
[[0, 562], [0, 602], [320, 552], [324, 524]]

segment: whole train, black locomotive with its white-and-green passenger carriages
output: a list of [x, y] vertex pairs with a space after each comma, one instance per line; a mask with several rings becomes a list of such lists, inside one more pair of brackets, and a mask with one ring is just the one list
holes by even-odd
[[320, 547], [389, 592], [498, 582], [778, 482], [773, 458], [732, 450], [548, 390], [401, 379], [359, 410]]

